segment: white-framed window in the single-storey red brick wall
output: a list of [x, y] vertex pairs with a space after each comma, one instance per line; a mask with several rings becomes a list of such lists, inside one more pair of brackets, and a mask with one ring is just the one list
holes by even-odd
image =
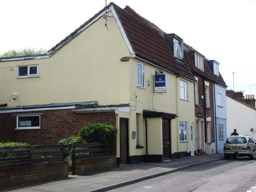
[[17, 116], [16, 129], [40, 129], [40, 115]]

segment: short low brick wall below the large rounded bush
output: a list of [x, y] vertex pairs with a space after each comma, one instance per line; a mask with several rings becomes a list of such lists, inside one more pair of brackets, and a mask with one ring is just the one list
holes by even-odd
[[116, 155], [75, 160], [75, 175], [99, 172], [116, 167]]

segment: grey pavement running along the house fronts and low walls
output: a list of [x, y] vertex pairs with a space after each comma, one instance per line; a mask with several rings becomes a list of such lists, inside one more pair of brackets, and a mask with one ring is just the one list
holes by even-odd
[[204, 154], [163, 163], [121, 164], [120, 167], [104, 172], [70, 175], [61, 180], [10, 187], [0, 192], [105, 192], [222, 159], [224, 159], [224, 154]]

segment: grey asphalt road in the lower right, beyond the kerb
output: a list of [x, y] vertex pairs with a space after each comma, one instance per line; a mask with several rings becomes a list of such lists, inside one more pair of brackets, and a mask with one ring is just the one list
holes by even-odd
[[220, 160], [111, 192], [256, 192], [256, 161]]

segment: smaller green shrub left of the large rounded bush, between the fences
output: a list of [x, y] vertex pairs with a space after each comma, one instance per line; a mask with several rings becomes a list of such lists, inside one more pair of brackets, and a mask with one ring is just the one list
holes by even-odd
[[72, 154], [72, 143], [84, 143], [80, 136], [72, 135], [68, 138], [64, 138], [58, 141], [58, 144], [62, 144], [62, 158], [64, 160], [70, 160]]

